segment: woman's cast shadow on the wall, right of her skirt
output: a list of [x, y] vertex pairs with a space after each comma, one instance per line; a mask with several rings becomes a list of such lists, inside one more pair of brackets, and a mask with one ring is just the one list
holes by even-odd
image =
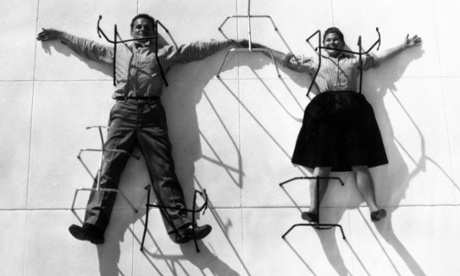
[[[412, 254], [407, 250], [404, 244], [396, 236], [393, 227], [392, 227], [392, 213], [397, 209], [397, 206], [400, 205], [401, 201], [405, 196], [405, 191], [408, 189], [411, 184], [411, 179], [415, 177], [418, 173], [422, 172], [425, 168], [426, 162], [426, 152], [425, 152], [425, 138], [423, 137], [419, 126], [415, 123], [415, 120], [412, 118], [411, 114], [407, 112], [403, 105], [400, 104], [400, 108], [404, 110], [405, 116], [407, 116], [408, 121], [411, 122], [411, 125], [408, 125], [407, 128], [415, 130], [417, 133], [419, 143], [419, 160], [413, 159], [415, 168], [410, 170], [408, 164], [403, 159], [403, 152], [400, 151], [400, 148], [405, 151], [404, 147], [398, 142], [398, 138], [394, 136], [393, 127], [389, 119], [387, 110], [385, 109], [384, 97], [394, 96], [395, 92], [395, 83], [402, 77], [406, 68], [414, 60], [417, 60], [423, 56], [423, 50], [420, 48], [411, 49], [405, 53], [399, 55], [393, 60], [388, 61], [386, 64], [383, 64], [381, 68], [375, 69], [369, 72], [368, 79], [365, 75], [364, 83], [364, 95], [374, 107], [374, 111], [379, 123], [379, 127], [382, 133], [382, 138], [384, 140], [385, 149], [389, 157], [389, 164], [377, 168], [373, 168], [371, 173], [373, 174], [375, 188], [376, 188], [376, 197], [377, 203], [381, 206], [389, 206], [387, 208], [388, 216], [381, 222], [375, 223], [375, 229], [379, 232], [380, 236], [383, 237], [388, 244], [390, 244], [395, 252], [399, 255], [401, 260], [407, 265], [409, 270], [414, 275], [425, 275], [420, 264], [414, 259]], [[384, 77], [380, 77], [383, 75]], [[400, 93], [404, 93], [401, 91]], [[357, 195], [357, 190], [353, 189], [354, 195]], [[356, 199], [355, 199], [356, 200]], [[355, 205], [358, 206], [359, 202], [355, 202]], [[391, 254], [388, 254], [383, 247], [383, 245], [378, 241], [376, 233], [374, 233], [367, 212], [361, 212], [358, 209], [359, 214], [367, 226], [369, 233], [375, 237], [377, 248], [381, 249], [381, 252], [376, 252], [380, 256], [386, 256], [388, 263], [391, 264], [391, 267], [395, 270], [395, 273], [400, 273], [398, 271], [399, 260], [393, 260]], [[352, 249], [352, 245], [348, 243], [348, 246], [352, 252], [355, 252]], [[359, 256], [355, 254], [356, 258]], [[367, 271], [367, 268], [363, 262], [360, 262], [362, 268]], [[345, 274], [343, 274], [345, 275]]]

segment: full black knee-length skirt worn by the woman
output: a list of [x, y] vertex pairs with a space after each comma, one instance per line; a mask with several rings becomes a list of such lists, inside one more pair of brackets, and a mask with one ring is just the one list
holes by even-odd
[[387, 164], [382, 136], [372, 106], [359, 93], [323, 92], [305, 109], [292, 163], [308, 168]]

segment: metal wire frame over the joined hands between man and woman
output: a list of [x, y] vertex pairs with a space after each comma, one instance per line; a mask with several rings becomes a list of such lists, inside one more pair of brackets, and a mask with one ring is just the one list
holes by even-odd
[[[225, 23], [227, 23], [227, 21], [230, 19], [230, 18], [247, 18], [248, 19], [248, 37], [249, 37], [249, 44], [248, 44], [248, 48], [247, 49], [243, 49], [243, 48], [232, 48], [230, 50], [227, 51], [227, 54], [225, 55], [225, 58], [224, 58], [224, 61], [222, 62], [222, 65], [220, 66], [219, 68], [219, 72], [217, 73], [217, 77], [220, 78], [220, 73], [222, 72], [222, 68], [224, 67], [226, 61], [227, 61], [227, 58], [229, 56], [229, 54], [231, 52], [268, 52], [273, 60], [273, 63], [275, 64], [275, 68], [276, 68], [276, 73], [278, 75], [278, 77], [280, 78], [281, 75], [280, 75], [280, 72], [278, 70], [278, 65], [276, 64], [276, 61], [275, 61], [275, 57], [273, 55], [273, 52], [272, 50], [268, 49], [268, 48], [255, 48], [253, 49], [252, 48], [252, 28], [251, 28], [251, 18], [269, 18], [270, 21], [272, 22], [273, 24], [273, 27], [275, 27], [275, 31], [278, 31], [278, 28], [276, 27], [275, 25], [275, 22], [273, 21], [273, 19], [271, 18], [271, 16], [269, 15], [251, 15], [251, 0], [248, 0], [248, 15], [230, 15], [230, 16], [227, 16], [227, 18], [224, 20], [224, 22], [219, 26], [218, 30], [219, 32], [222, 33], [222, 35], [224, 37], [227, 38], [227, 36], [222, 32], [222, 27], [225, 25]], [[228, 39], [228, 38], [227, 38]]]

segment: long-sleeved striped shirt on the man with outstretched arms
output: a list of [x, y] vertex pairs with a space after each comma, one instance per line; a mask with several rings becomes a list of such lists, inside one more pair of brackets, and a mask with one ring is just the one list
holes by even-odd
[[[113, 66], [114, 49], [92, 40], [62, 32], [59, 39], [79, 56]], [[230, 46], [230, 41], [194, 42], [178, 48], [167, 45], [158, 50], [164, 72], [171, 66], [204, 59]], [[117, 45], [116, 86], [113, 98], [161, 96], [163, 78], [155, 58], [155, 47], [136, 47], [133, 42]]]

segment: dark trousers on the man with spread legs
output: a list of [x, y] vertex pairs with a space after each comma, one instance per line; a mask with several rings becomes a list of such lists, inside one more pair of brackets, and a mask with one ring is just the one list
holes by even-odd
[[[109, 130], [104, 149], [132, 152], [138, 145], [147, 164], [159, 204], [184, 209], [184, 195], [174, 171], [166, 115], [160, 100], [117, 100], [110, 111]], [[101, 168], [101, 188], [117, 189], [129, 155], [105, 152]], [[97, 183], [95, 181], [94, 187]], [[105, 231], [110, 221], [114, 192], [91, 192], [85, 223]], [[161, 209], [168, 232], [189, 225], [184, 210]]]

